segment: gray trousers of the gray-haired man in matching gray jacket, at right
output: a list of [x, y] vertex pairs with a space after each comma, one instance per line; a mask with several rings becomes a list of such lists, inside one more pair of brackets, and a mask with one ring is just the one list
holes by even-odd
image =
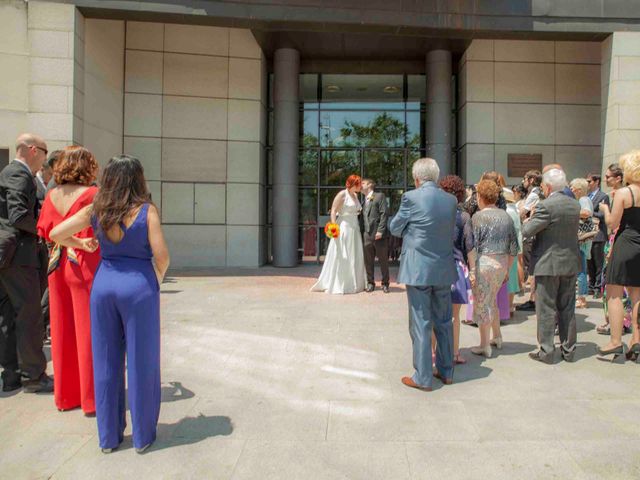
[[538, 343], [547, 357], [553, 356], [553, 334], [558, 321], [560, 343], [570, 354], [576, 345], [576, 275], [536, 276], [536, 317]]

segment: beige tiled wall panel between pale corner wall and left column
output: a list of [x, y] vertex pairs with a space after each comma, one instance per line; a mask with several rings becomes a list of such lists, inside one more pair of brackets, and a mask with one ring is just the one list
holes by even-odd
[[266, 67], [253, 35], [125, 28], [124, 151], [144, 163], [174, 263], [264, 263]]

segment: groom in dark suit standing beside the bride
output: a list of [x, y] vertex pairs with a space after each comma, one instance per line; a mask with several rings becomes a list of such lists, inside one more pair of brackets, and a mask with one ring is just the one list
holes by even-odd
[[382, 291], [389, 293], [389, 230], [387, 228], [387, 199], [375, 191], [376, 182], [362, 180], [364, 208], [362, 209], [364, 265], [367, 270], [367, 292], [375, 289], [374, 265], [376, 256], [382, 270]]

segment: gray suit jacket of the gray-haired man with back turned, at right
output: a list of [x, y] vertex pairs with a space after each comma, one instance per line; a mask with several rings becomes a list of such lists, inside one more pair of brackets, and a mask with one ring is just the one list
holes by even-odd
[[559, 192], [536, 205], [522, 226], [522, 236], [534, 237], [529, 272], [534, 276], [565, 276], [580, 272], [578, 225], [580, 204]]

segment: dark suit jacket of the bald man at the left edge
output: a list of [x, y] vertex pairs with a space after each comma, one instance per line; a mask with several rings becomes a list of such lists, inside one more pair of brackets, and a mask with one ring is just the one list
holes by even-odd
[[12, 161], [0, 172], [0, 228], [16, 235], [11, 265], [38, 267], [37, 188], [33, 175]]

